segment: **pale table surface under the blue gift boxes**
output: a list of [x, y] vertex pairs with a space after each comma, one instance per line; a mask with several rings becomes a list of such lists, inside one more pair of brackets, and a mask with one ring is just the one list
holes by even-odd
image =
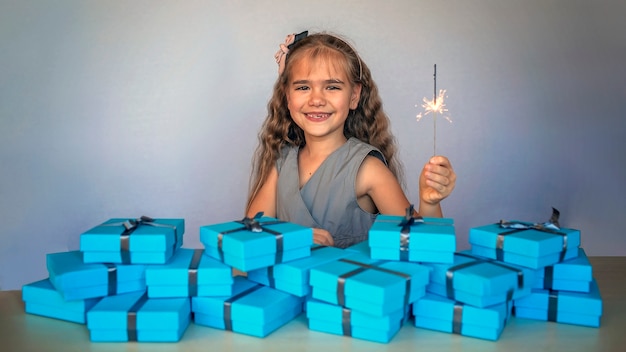
[[418, 329], [388, 344], [309, 330], [304, 314], [261, 339], [190, 324], [176, 343], [92, 343], [82, 324], [24, 313], [21, 291], [0, 292], [2, 351], [624, 351], [626, 257], [590, 257], [603, 299], [600, 328], [512, 317], [498, 341]]

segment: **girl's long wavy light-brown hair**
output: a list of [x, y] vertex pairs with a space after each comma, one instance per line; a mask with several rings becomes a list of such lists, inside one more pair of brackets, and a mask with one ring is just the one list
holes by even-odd
[[267, 105], [267, 117], [259, 132], [259, 145], [252, 161], [246, 212], [275, 167], [281, 149], [286, 146], [303, 147], [306, 144], [302, 129], [291, 119], [286, 89], [294, 63], [307, 59], [327, 60], [344, 70], [352, 85], [362, 86], [359, 104], [355, 110], [350, 111], [343, 133], [346, 138], [356, 137], [378, 148], [387, 160], [391, 172], [404, 185], [402, 165], [396, 157], [397, 147], [390, 131], [389, 117], [383, 111], [378, 87], [369, 68], [345, 40], [336, 35], [317, 33], [293, 44], [285, 61], [285, 70], [274, 84], [274, 93]]

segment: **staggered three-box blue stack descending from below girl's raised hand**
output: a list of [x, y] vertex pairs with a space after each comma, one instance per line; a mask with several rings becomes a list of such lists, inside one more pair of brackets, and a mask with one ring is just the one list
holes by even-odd
[[524, 270], [456, 252], [452, 219], [415, 218], [412, 207], [404, 217], [378, 217], [369, 247], [372, 258], [419, 262], [428, 269], [426, 293], [410, 306], [418, 328], [497, 340], [514, 295], [524, 290]]

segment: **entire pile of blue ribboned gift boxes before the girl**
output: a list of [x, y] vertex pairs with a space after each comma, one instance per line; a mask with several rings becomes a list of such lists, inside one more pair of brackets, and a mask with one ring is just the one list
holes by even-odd
[[81, 234], [80, 251], [47, 255], [25, 310], [86, 324], [91, 341], [175, 342], [192, 321], [265, 337], [303, 311], [311, 330], [380, 343], [407, 321], [494, 341], [511, 315], [600, 325], [580, 232], [556, 210], [472, 228], [460, 252], [452, 219], [413, 213], [379, 215], [346, 249], [261, 213], [200, 227], [204, 249], [181, 247], [183, 219], [111, 219]]

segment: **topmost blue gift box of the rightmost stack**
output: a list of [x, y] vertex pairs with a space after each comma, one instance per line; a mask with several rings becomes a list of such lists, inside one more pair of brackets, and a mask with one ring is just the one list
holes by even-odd
[[474, 227], [469, 232], [473, 254], [531, 269], [575, 258], [580, 231], [561, 228], [556, 232], [515, 230], [500, 224]]

